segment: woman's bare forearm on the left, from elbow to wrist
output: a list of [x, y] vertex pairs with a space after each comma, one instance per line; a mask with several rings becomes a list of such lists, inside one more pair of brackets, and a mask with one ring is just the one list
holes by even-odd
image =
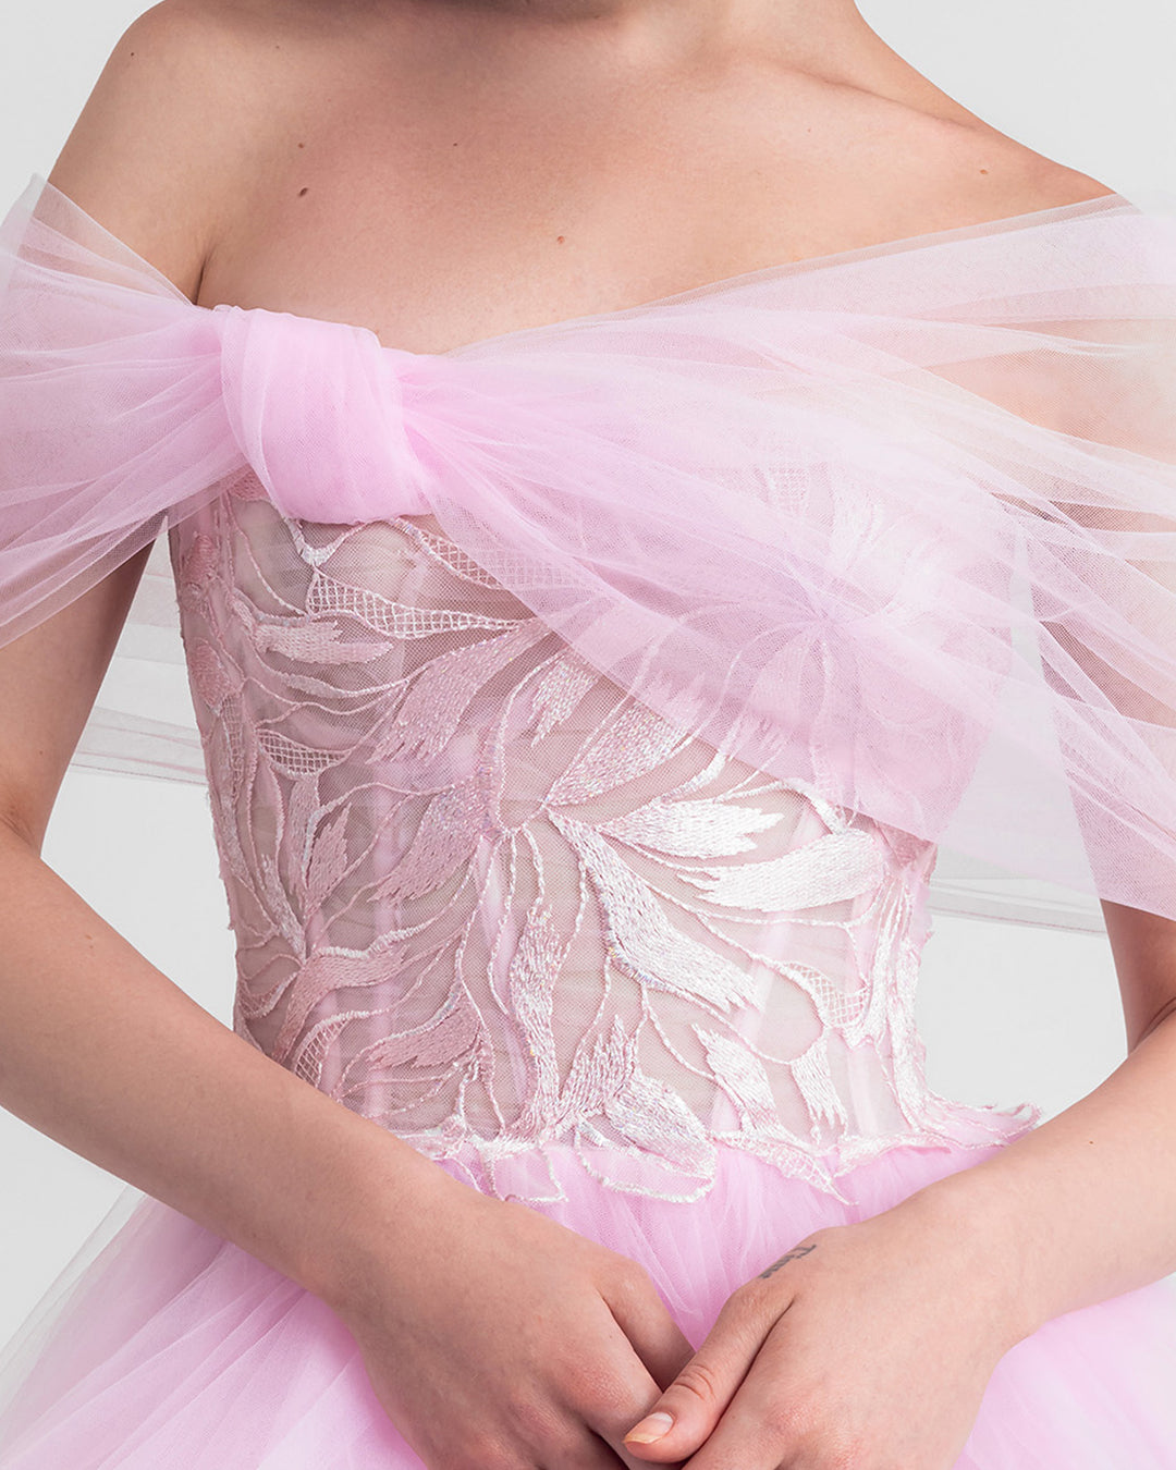
[[328, 1299], [360, 1232], [456, 1185], [210, 1016], [4, 822], [0, 1016], [0, 1105]]

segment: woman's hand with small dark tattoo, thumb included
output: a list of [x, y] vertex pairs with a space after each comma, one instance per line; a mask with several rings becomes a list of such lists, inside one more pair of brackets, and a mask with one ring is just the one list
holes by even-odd
[[672, 1427], [626, 1451], [689, 1470], [951, 1470], [1030, 1330], [1016, 1260], [982, 1236], [917, 1195], [806, 1236], [726, 1299], [650, 1410]]

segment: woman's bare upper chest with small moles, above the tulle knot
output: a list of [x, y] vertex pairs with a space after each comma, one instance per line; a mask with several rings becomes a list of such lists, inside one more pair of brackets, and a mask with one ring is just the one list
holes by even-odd
[[309, 88], [259, 123], [265, 163], [200, 304], [445, 351], [1029, 207], [1025, 150], [1000, 134], [807, 76], [639, 85], [537, 63], [513, 87], [397, 74], [394, 91]]

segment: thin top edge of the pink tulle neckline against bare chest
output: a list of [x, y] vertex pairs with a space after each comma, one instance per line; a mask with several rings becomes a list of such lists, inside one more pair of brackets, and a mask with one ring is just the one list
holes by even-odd
[[1076, 219], [1085, 215], [1142, 215], [1144, 212], [1139, 206], [1133, 204], [1125, 194], [1117, 190], [1111, 190], [1105, 194], [1095, 194], [1091, 198], [1073, 200], [1069, 204], [1050, 204], [1044, 209], [1030, 209], [1019, 215], [1003, 215], [997, 219], [976, 220], [969, 225], [950, 225], [945, 229], [931, 229], [920, 231], [913, 235], [900, 235], [894, 240], [878, 241], [872, 245], [857, 245], [850, 250], [833, 250], [819, 256], [803, 256], [798, 260], [781, 260], [766, 266], [757, 266], [753, 270], [741, 270], [735, 275], [717, 276], [713, 281], [703, 281], [698, 285], [686, 287], [682, 291], [673, 291], [669, 295], [650, 297], [644, 301], [635, 301], [632, 306], [622, 306], [613, 310], [603, 312], [585, 312], [578, 316], [560, 318], [554, 322], [541, 322], [535, 326], [517, 326], [506, 332], [495, 332], [490, 337], [478, 337], [469, 343], [459, 343], [456, 347], [447, 347], [440, 353], [428, 351], [413, 351], [407, 347], [395, 347], [390, 343], [382, 341], [382, 338], [372, 331], [370, 326], [360, 326], [356, 322], [341, 322], [335, 318], [312, 316], [303, 312], [287, 312], [281, 309], [272, 309], [265, 306], [237, 306], [231, 301], [220, 301], [215, 306], [204, 306], [201, 303], [193, 301], [179, 287], [166, 276], [160, 269], [153, 266], [148, 260], [140, 256], [126, 241], [121, 240], [113, 231], [107, 229], [106, 225], [94, 219], [93, 215], [87, 213], [81, 204], [75, 203], [63, 190], [59, 190], [56, 184], [41, 175], [34, 173], [28, 193], [44, 190], [50, 196], [56, 196], [63, 201], [68, 210], [79, 215], [88, 222], [98, 234], [104, 235], [107, 240], [113, 241], [118, 250], [131, 257], [138, 266], [148, 272], [160, 285], [166, 287], [168, 293], [176, 297], [184, 306], [190, 307], [193, 312], [244, 312], [244, 313], [263, 313], [269, 316], [287, 316], [295, 318], [298, 320], [306, 320], [319, 326], [338, 326], [350, 329], [353, 332], [360, 332], [372, 337], [379, 347], [385, 351], [392, 353], [398, 357], [417, 357], [422, 360], [428, 359], [457, 359], [467, 354], [476, 354], [482, 348], [497, 347], [501, 343], [512, 343], [519, 338], [534, 338], [544, 334], [556, 334], [567, 329], [587, 329], [597, 323], [622, 322], [632, 318], [641, 318], [645, 315], [653, 315], [663, 307], [685, 304], [688, 301], [701, 300], [720, 300], [726, 295], [732, 295], [736, 291], [766, 282], [766, 281], [785, 281], [792, 276], [814, 273], [819, 270], [832, 270], [839, 266], [850, 266], [857, 262], [870, 260], [889, 254], [908, 253], [939, 244], [954, 244], [957, 241], [975, 240], [988, 235], [1005, 234], [1017, 229], [1032, 229], [1051, 225], [1054, 222]]

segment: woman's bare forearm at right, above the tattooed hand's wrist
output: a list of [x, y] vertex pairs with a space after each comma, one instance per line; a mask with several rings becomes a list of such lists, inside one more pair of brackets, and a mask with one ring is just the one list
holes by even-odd
[[1176, 1272], [1176, 1016], [1092, 1092], [898, 1205], [966, 1233], [1011, 1341]]

